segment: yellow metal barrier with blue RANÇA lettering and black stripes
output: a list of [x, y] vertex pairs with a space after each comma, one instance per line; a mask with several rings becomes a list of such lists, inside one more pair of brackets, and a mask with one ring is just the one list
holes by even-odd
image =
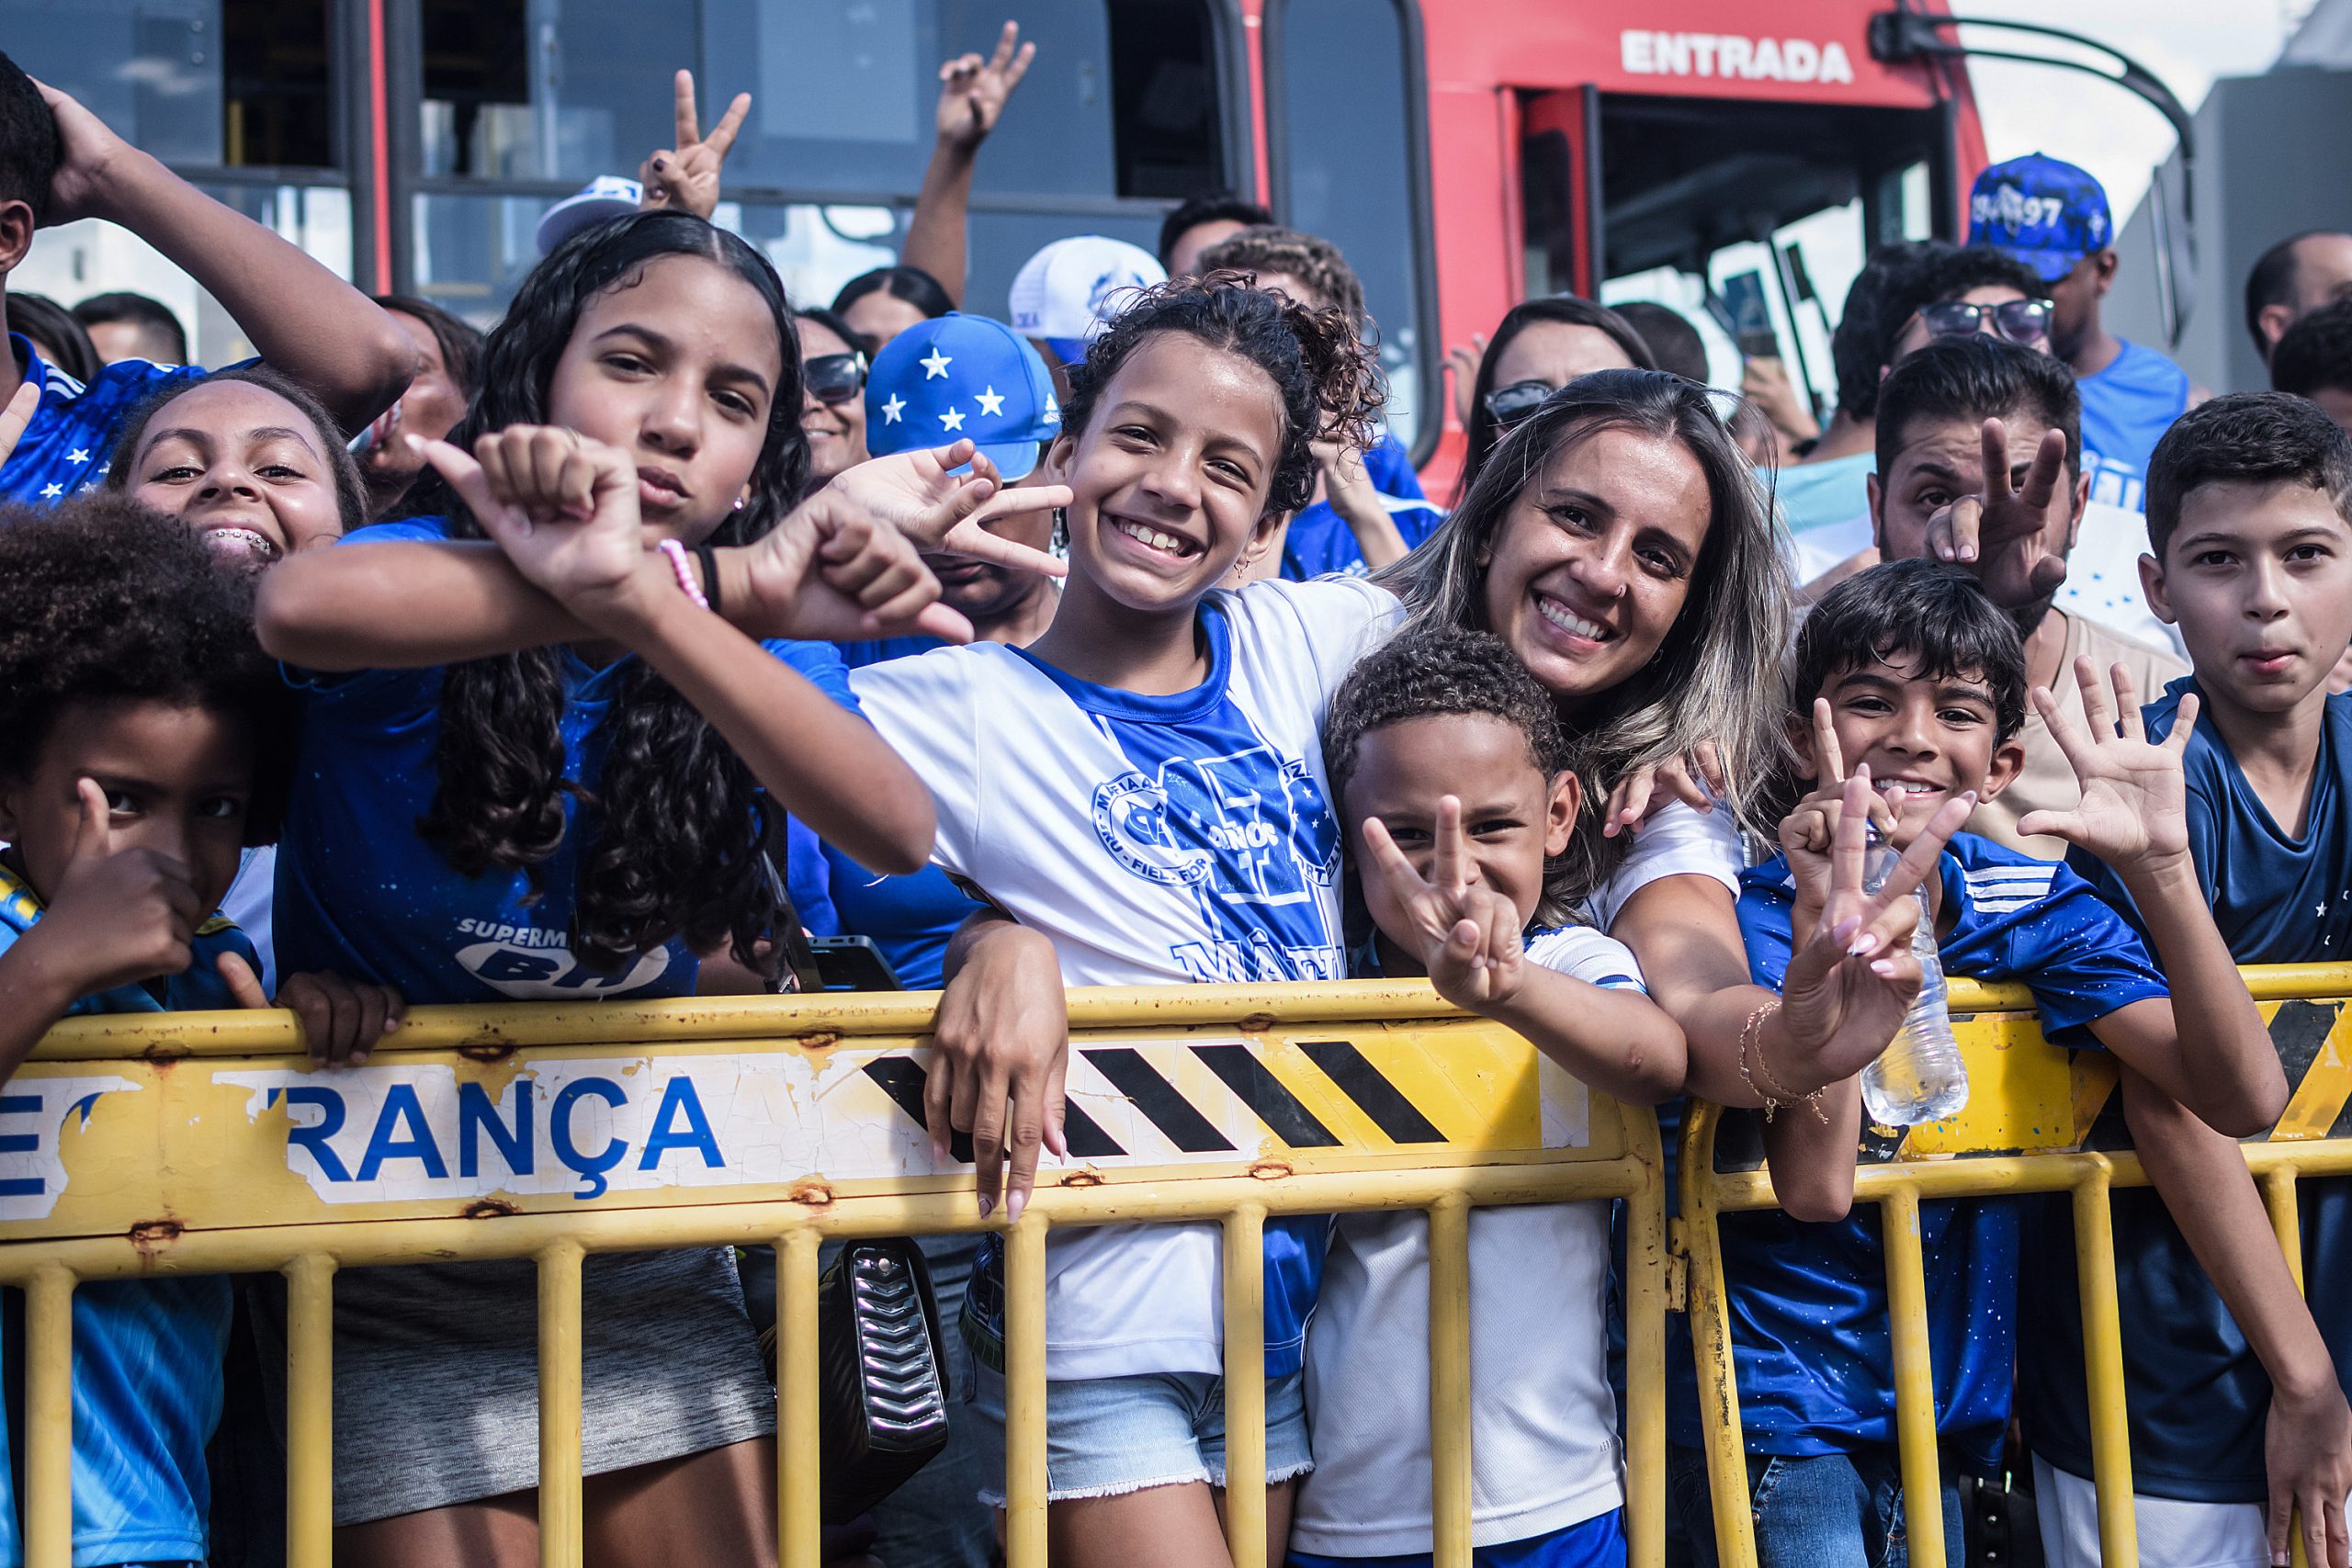
[[[581, 1561], [581, 1260], [774, 1244], [779, 1559], [818, 1563], [816, 1255], [976, 1232], [920, 1124], [936, 997], [416, 1009], [367, 1067], [310, 1070], [280, 1013], [68, 1020], [0, 1098], [0, 1284], [26, 1288], [31, 1568], [71, 1563], [78, 1281], [280, 1269], [287, 1559], [332, 1559], [341, 1269], [539, 1267], [541, 1561]], [[1423, 985], [1070, 994], [1068, 1164], [1007, 1239], [1007, 1533], [1044, 1563], [1044, 1239], [1225, 1227], [1228, 1535], [1265, 1563], [1268, 1215], [1430, 1211], [1437, 1563], [1470, 1563], [1468, 1211], [1628, 1201], [1628, 1535], [1665, 1537], [1665, 1182], [1656, 1119]], [[1000, 1211], [1002, 1215], [1002, 1211]]]

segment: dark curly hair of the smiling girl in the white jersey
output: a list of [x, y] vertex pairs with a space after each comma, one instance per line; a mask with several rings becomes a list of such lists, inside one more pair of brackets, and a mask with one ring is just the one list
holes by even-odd
[[1087, 346], [1087, 357], [1068, 367], [1065, 437], [1087, 433], [1103, 388], [1162, 331], [1190, 334], [1272, 376], [1282, 393], [1282, 451], [1265, 491], [1268, 512], [1296, 512], [1315, 496], [1312, 442], [1369, 447], [1378, 437], [1381, 367], [1355, 336], [1355, 322], [1336, 306], [1310, 308], [1268, 294], [1232, 270], [1131, 289], [1120, 315]]

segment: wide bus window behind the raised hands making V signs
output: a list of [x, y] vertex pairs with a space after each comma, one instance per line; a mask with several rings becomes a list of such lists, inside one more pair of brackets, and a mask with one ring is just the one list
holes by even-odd
[[[407, 205], [412, 282], [463, 315], [503, 310], [536, 261], [536, 214], [597, 174], [635, 176], [670, 143], [668, 75], [687, 66], [706, 120], [753, 94], [715, 216], [736, 214], [731, 226], [769, 249], [793, 299], [830, 299], [896, 259], [936, 141], [938, 63], [988, 54], [1007, 9], [423, 0], [409, 89], [423, 174]], [[1037, 59], [974, 181], [969, 303], [990, 313], [1047, 240], [1103, 233], [1148, 247], [1169, 197], [1230, 188], [1247, 155], [1228, 132], [1247, 99], [1223, 78], [1232, 52], [1216, 0], [1011, 9]], [[614, 49], [623, 35], [633, 47]]]

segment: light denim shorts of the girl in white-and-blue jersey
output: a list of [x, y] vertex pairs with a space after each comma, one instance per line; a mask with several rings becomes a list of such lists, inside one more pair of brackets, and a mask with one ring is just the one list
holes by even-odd
[[[974, 1368], [988, 1483], [981, 1502], [1004, 1507], [1004, 1373]], [[1315, 1469], [1308, 1453], [1305, 1375], [1265, 1380], [1265, 1481]], [[1145, 1373], [1044, 1385], [1044, 1497], [1115, 1497], [1145, 1486], [1225, 1483], [1225, 1380], [1216, 1373]]]

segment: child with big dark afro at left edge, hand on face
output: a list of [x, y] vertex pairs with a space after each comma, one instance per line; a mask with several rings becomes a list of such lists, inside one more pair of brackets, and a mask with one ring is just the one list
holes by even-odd
[[[68, 1107], [16, 1072], [59, 1018], [266, 1006], [254, 950], [214, 910], [240, 849], [275, 832], [292, 757], [249, 576], [118, 496], [33, 517], [0, 512], [0, 1079], [54, 1138]], [[301, 1009], [313, 1058], [397, 1025], [390, 992], [339, 1001], [341, 1030], [320, 992]], [[205, 1559], [228, 1316], [216, 1276], [75, 1288], [75, 1563]], [[0, 1455], [19, 1441], [12, 1413]], [[0, 1561], [24, 1561], [7, 1488]]]

